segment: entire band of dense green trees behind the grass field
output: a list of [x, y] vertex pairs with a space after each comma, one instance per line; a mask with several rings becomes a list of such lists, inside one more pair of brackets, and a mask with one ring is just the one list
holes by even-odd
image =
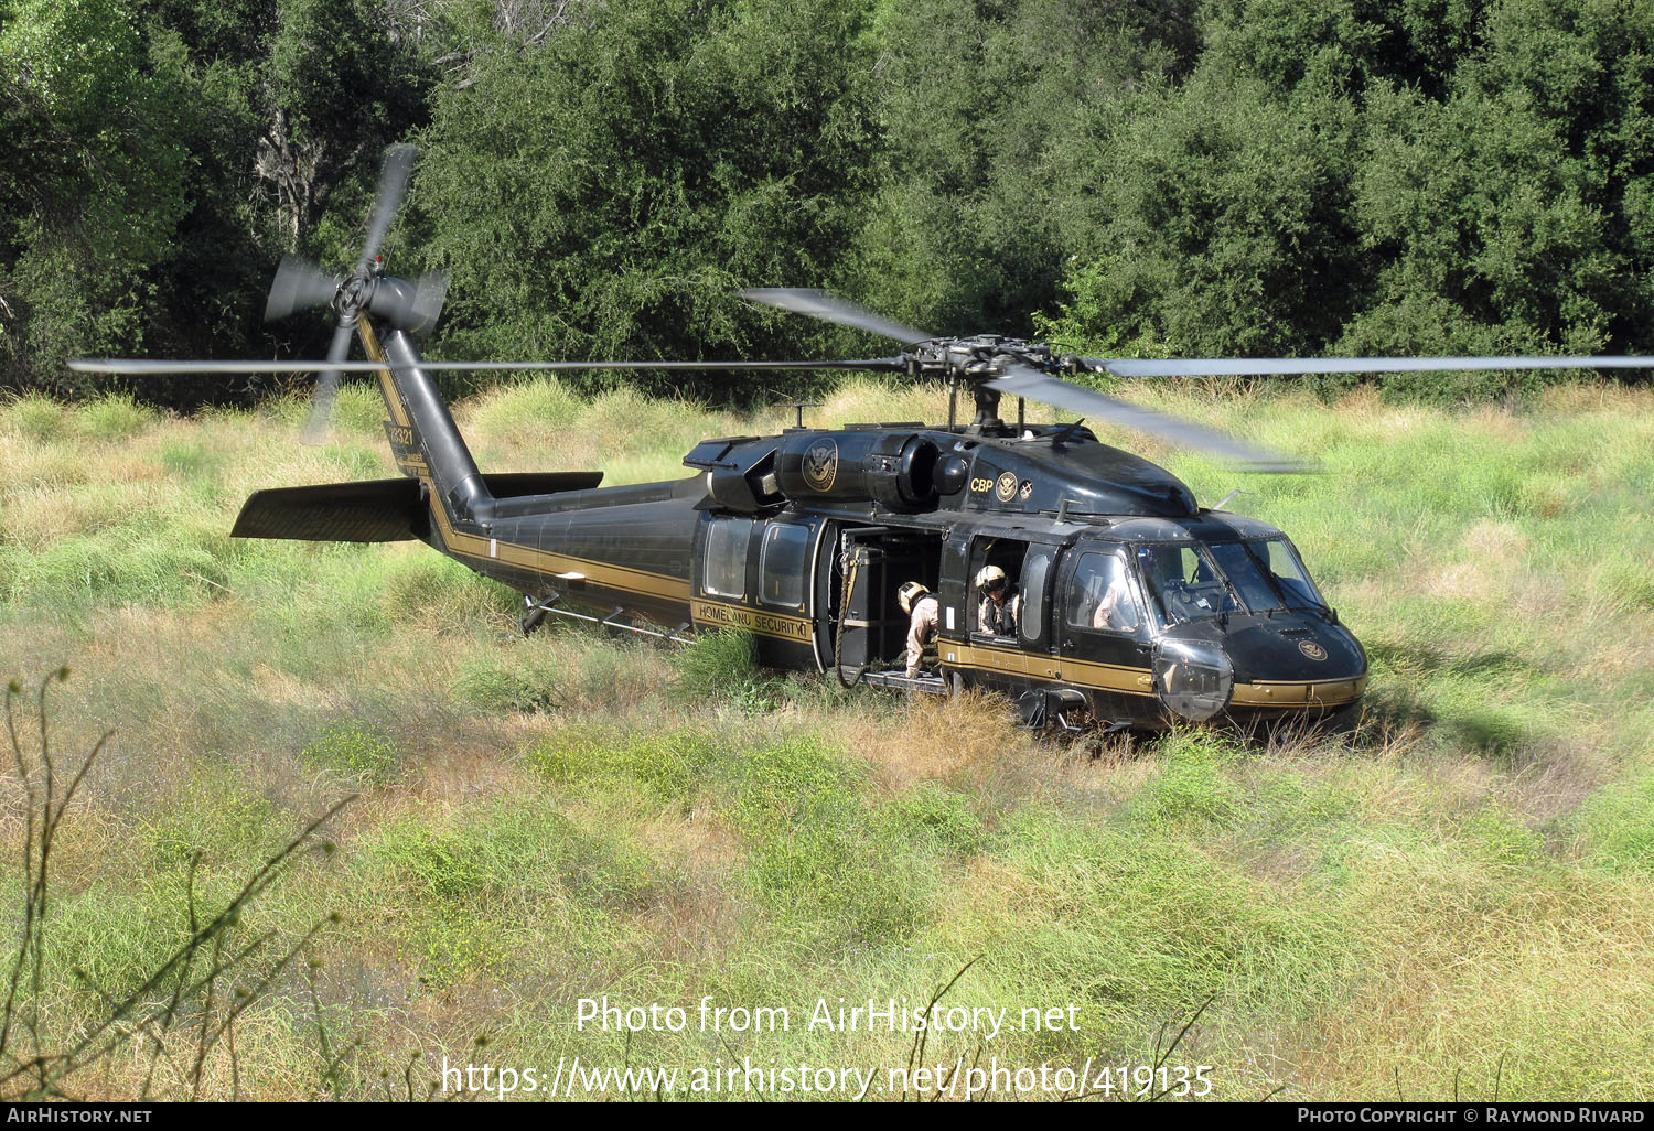
[[883, 347], [751, 284], [1097, 352], [1654, 351], [1654, 0], [0, 0], [0, 91], [13, 389], [323, 349], [263, 289], [354, 258], [400, 137], [455, 357]]

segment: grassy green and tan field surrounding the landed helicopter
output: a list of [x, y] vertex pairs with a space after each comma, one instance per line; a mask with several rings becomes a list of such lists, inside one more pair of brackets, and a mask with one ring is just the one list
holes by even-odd
[[[180, 1012], [65, 1088], [425, 1096], [443, 1057], [574, 1055], [883, 1083], [913, 1037], [809, 1030], [817, 999], [923, 1005], [974, 961], [943, 1004], [1073, 1004], [1078, 1032], [938, 1032], [925, 1062], [1141, 1065], [1206, 1004], [1169, 1063], [1212, 1065], [1221, 1098], [1654, 1096], [1654, 395], [1143, 397], [1325, 468], [1240, 476], [1136, 445], [1202, 501], [1254, 491], [1234, 508], [1292, 534], [1373, 661], [1356, 733], [1088, 759], [992, 699], [845, 694], [728, 640], [523, 640], [511, 594], [417, 544], [230, 541], [255, 488], [390, 475], [366, 387], [324, 448], [294, 441], [299, 402], [0, 407], [0, 676], [69, 666], [46, 694], [60, 762], [114, 729], [53, 848], [23, 994], [40, 1042], [142, 989], [192, 893], [222, 906], [357, 795], [326, 828], [337, 852], [303, 847], [240, 916], [271, 954], [319, 928], [268, 977], [225, 979], [233, 1048], [192, 1058]], [[944, 412], [936, 389], [849, 384], [814, 420]], [[457, 417], [486, 470], [619, 483], [791, 410], [539, 382]], [[17, 772], [0, 785], [15, 860]], [[8, 888], [20, 908], [22, 871]], [[691, 1025], [579, 1030], [577, 999], [602, 995]], [[791, 1030], [700, 1032], [705, 995], [787, 1007]]]

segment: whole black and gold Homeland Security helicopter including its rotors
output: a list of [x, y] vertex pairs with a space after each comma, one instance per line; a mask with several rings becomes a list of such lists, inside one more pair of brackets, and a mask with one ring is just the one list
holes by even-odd
[[[910, 691], [1007, 693], [1029, 723], [1161, 728], [1178, 719], [1305, 718], [1355, 704], [1366, 655], [1287, 536], [1202, 508], [1174, 475], [1100, 443], [1080, 423], [1027, 425], [1024, 400], [1239, 460], [1297, 470], [1199, 425], [1153, 413], [1057, 374], [1116, 377], [1446, 369], [1628, 369], [1647, 357], [1422, 357], [1103, 360], [992, 336], [935, 337], [820, 291], [746, 291], [754, 303], [883, 334], [890, 357], [716, 362], [427, 362], [415, 336], [437, 319], [445, 279], [390, 278], [377, 248], [412, 169], [385, 162], [356, 270], [342, 278], [286, 260], [266, 317], [329, 304], [326, 362], [76, 362], [104, 372], [319, 370], [318, 413], [341, 372], [377, 377], [399, 478], [258, 491], [240, 537], [420, 539], [524, 595], [524, 632], [566, 615], [681, 640], [741, 628], [777, 668], [837, 673]], [[347, 362], [352, 334], [370, 360]], [[941, 379], [946, 425], [794, 427], [705, 440], [667, 483], [602, 488], [602, 471], [480, 471], [430, 374], [438, 369], [865, 369]], [[956, 418], [959, 390], [974, 402]], [[1017, 422], [999, 415], [1017, 398]], [[982, 622], [976, 580], [1002, 572], [1021, 594], [1014, 627]], [[905, 673], [900, 592], [938, 599], [935, 655]], [[675, 627], [673, 627], [675, 625]]]

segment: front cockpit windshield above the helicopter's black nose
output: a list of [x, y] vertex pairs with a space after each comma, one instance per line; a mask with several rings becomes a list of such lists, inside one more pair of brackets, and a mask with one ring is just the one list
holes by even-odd
[[1148, 544], [1136, 564], [1163, 628], [1232, 612], [1327, 607], [1284, 537]]

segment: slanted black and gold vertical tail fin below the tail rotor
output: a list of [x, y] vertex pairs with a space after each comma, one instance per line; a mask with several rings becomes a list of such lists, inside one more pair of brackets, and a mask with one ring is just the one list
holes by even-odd
[[443, 508], [452, 524], [486, 523], [495, 513], [495, 496], [435, 382], [420, 369], [414, 337], [389, 326], [375, 329], [366, 314], [356, 332], [367, 356], [384, 365], [379, 392], [385, 398], [385, 438], [402, 475], [430, 484], [432, 504]]

